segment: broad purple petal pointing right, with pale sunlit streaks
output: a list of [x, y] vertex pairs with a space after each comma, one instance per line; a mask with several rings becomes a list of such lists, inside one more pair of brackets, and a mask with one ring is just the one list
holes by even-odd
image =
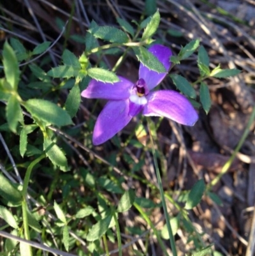
[[164, 116], [180, 124], [194, 125], [198, 114], [193, 105], [182, 94], [162, 90], [150, 93], [148, 103], [143, 109], [145, 116]]

